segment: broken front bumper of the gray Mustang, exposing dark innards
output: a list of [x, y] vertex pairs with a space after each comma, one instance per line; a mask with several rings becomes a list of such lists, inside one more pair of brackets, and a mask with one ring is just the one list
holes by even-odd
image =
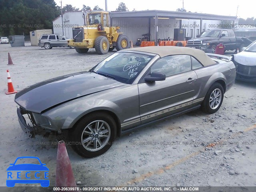
[[[33, 115], [30, 112], [24, 110], [23, 108], [18, 107], [17, 114], [20, 127], [30, 138], [34, 138], [36, 134], [46, 134], [46, 132], [50, 132], [49, 130], [45, 130], [40, 126], [37, 126]], [[26, 122], [26, 119], [23, 115], [28, 115], [32, 126], [30, 126], [29, 123]]]

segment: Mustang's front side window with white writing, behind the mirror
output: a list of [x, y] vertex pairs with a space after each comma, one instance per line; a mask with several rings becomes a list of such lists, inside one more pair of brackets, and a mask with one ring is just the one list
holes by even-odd
[[172, 55], [161, 58], [151, 67], [151, 72], [162, 72], [166, 76], [191, 70], [189, 55]]

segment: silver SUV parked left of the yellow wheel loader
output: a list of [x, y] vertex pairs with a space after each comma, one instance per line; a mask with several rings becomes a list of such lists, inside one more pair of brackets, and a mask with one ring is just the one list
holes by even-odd
[[68, 46], [69, 38], [59, 34], [44, 34], [40, 37], [38, 46], [45, 49], [51, 49], [53, 47], [69, 47], [74, 49], [73, 46]]

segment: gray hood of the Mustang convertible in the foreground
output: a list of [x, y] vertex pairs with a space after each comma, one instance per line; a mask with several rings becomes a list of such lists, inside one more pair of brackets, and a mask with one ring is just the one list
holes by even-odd
[[125, 85], [116, 80], [91, 73], [68, 74], [34, 84], [18, 92], [15, 102], [28, 111], [42, 113], [58, 104]]

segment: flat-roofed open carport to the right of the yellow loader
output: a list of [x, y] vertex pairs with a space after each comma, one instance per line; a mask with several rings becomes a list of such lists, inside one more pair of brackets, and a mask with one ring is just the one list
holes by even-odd
[[[163, 10], [110, 13], [111, 26], [120, 26], [120, 30], [131, 40], [134, 41], [137, 38], [141, 38], [142, 34], [150, 34], [150, 39], [154, 40], [156, 45], [158, 38], [172, 38], [174, 28], [186, 28], [186, 30], [191, 30], [191, 26], [192, 34], [193, 29], [195, 31], [197, 30], [200, 34], [202, 32], [203, 20], [218, 20], [218, 23], [220, 23], [220, 20], [235, 21], [236, 18], [236, 16]], [[187, 20], [192, 20], [192, 24], [186, 25]], [[199, 20], [200, 24], [197, 24], [194, 20]], [[197, 26], [198, 28], [196, 28]], [[213, 26], [219, 28], [217, 24]]]

